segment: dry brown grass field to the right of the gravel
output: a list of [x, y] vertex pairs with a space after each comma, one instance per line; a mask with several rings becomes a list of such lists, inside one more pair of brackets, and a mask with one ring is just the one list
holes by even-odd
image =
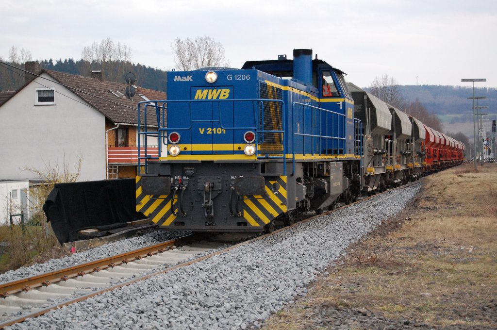
[[343, 266], [296, 308], [273, 317], [267, 329], [312, 326], [306, 313], [317, 306], [368, 309], [438, 326], [497, 328], [477, 317], [497, 296], [495, 182], [497, 164], [478, 172], [463, 165], [426, 177], [416, 207], [392, 220], [410, 221], [354, 246]]

